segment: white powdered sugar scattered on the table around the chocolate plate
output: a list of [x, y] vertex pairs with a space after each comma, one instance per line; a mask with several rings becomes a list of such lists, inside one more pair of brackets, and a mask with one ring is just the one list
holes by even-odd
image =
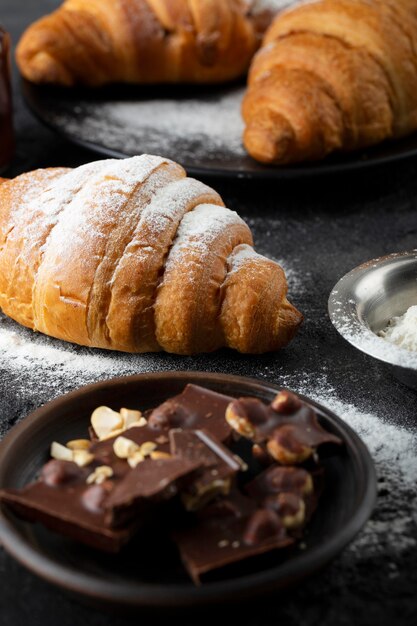
[[[33, 393], [47, 389], [44, 394], [48, 399], [64, 389], [108, 377], [178, 368], [177, 362], [171, 362], [169, 355], [106, 353], [64, 344], [21, 328], [4, 316], [0, 316], [0, 352], [3, 365], [9, 371], [15, 371], [16, 379], [22, 378], [26, 392], [31, 388]], [[200, 369], [203, 367], [204, 358]], [[259, 377], [262, 375], [267, 376], [268, 370], [259, 370]], [[277, 380], [280, 385], [304, 393], [327, 406], [356, 430], [370, 449], [377, 473], [380, 478], [383, 477], [384, 489], [409, 504], [396, 511], [395, 519], [386, 518], [377, 511], [376, 517], [342, 558], [353, 556], [354, 561], [361, 561], [382, 555], [387, 547], [381, 539], [385, 542], [387, 536], [394, 542], [396, 553], [414, 545], [413, 519], [409, 511], [413, 506], [412, 499], [416, 499], [417, 436], [407, 427], [394, 425], [378, 413], [371, 413], [338, 398], [336, 390], [328, 383], [323, 365], [318, 364], [316, 372], [283, 372]], [[351, 566], [352, 561], [349, 563]]]

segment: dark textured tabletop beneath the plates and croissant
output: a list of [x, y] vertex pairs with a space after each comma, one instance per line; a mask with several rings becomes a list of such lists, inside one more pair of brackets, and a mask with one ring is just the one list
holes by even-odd
[[[0, 23], [14, 42], [36, 17], [59, 2], [0, 0]], [[14, 76], [17, 150], [8, 175], [51, 165], [78, 165], [94, 155], [73, 147], [40, 126], [26, 110]], [[302, 288], [293, 300], [304, 312], [302, 332], [286, 350], [262, 357], [244, 357], [229, 351], [215, 355], [182, 358], [153, 355], [149, 369], [202, 369], [224, 371], [291, 382], [295, 389], [308, 389], [309, 381], [326, 376], [328, 385], [344, 402], [377, 413], [393, 423], [416, 428], [416, 396], [393, 379], [386, 369], [358, 353], [337, 335], [327, 317], [328, 294], [340, 276], [370, 258], [416, 247], [417, 159], [363, 173], [301, 180], [257, 183], [210, 180], [228, 206], [249, 220], [260, 252], [286, 260]], [[140, 357], [139, 357], [140, 358]], [[126, 371], [139, 363], [132, 358]], [[141, 365], [143, 368], [143, 364]], [[30, 385], [26, 374], [16, 375], [0, 360], [0, 420], [6, 430], [34, 407], [56, 394], [37, 381]], [[88, 382], [86, 376], [85, 382]], [[73, 386], [57, 372], [59, 391]], [[1, 431], [0, 431], [1, 432]], [[399, 451], [399, 454], [401, 451]], [[417, 453], [417, 451], [416, 451]], [[378, 466], [378, 506], [373, 524], [377, 546], [361, 552], [347, 551], [325, 572], [284, 597], [262, 600], [256, 605], [235, 607], [233, 622], [248, 626], [342, 626], [349, 624], [417, 623], [417, 513], [415, 489], [393, 489], [390, 468]], [[391, 532], [398, 512], [407, 513], [401, 541]], [[413, 521], [414, 520], [414, 521]], [[381, 530], [382, 529], [382, 530]], [[400, 545], [401, 544], [401, 545]], [[405, 546], [405, 547], [404, 547]], [[401, 548], [401, 549], [400, 549]], [[395, 575], [392, 574], [395, 572]], [[133, 619], [109, 617], [79, 606], [32, 574], [26, 572], [0, 548], [0, 626], [24, 624], [166, 623], [173, 616], [141, 613]], [[217, 610], [187, 613], [187, 625], [208, 624], [213, 619], [229, 623]]]

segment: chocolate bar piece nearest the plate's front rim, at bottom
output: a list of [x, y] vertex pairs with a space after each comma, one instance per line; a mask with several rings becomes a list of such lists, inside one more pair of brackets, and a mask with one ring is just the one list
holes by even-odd
[[279, 516], [257, 508], [239, 493], [203, 510], [193, 526], [174, 533], [185, 568], [195, 584], [201, 577], [294, 543]]

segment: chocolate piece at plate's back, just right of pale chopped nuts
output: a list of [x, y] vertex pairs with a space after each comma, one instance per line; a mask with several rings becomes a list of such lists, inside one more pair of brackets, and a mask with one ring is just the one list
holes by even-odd
[[226, 442], [232, 432], [225, 413], [233, 398], [198, 385], [187, 385], [182, 393], [154, 409], [148, 418], [151, 428], [203, 429]]

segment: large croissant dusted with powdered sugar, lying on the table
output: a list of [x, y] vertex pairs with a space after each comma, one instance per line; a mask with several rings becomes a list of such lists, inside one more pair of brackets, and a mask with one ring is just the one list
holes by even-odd
[[0, 307], [34, 330], [127, 352], [265, 352], [301, 323], [286, 293], [245, 222], [168, 159], [0, 185]]

